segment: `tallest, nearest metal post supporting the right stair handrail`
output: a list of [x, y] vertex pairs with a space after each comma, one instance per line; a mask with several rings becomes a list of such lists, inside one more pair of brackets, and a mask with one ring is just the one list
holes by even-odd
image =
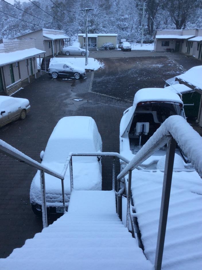
[[176, 148], [176, 141], [170, 135], [168, 138], [167, 151], [166, 151], [166, 162], [165, 162], [164, 181], [163, 181], [162, 197], [161, 197], [161, 210], [160, 210], [159, 227], [158, 227], [158, 238], [157, 238], [156, 256], [155, 256], [155, 263], [154, 263], [155, 270], [160, 270], [161, 265], [162, 265], [175, 148]]

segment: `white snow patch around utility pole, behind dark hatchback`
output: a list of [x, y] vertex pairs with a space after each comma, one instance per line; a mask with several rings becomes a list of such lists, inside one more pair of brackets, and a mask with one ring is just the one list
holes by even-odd
[[90, 69], [90, 70], [98, 70], [99, 68], [104, 68], [104, 63], [96, 60], [95, 58], [88, 58], [88, 65], [86, 66], [86, 58], [66, 58], [66, 57], [55, 57], [52, 58], [51, 63], [55, 62], [62, 62], [62, 63], [69, 63], [71, 65], [80, 67], [80, 68], [85, 68], [85, 69]]

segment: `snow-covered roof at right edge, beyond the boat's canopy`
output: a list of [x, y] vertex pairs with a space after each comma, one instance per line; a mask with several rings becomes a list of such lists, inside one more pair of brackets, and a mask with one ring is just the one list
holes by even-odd
[[195, 66], [187, 70], [184, 74], [176, 76], [181, 81], [202, 91], [202, 66]]

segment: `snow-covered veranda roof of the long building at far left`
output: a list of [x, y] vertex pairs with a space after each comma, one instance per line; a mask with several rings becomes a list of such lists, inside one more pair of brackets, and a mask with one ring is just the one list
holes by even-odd
[[9, 53], [0, 53], [0, 66], [31, 58], [42, 53], [45, 53], [45, 51], [41, 51], [36, 48], [25, 49], [21, 51], [12, 51]]

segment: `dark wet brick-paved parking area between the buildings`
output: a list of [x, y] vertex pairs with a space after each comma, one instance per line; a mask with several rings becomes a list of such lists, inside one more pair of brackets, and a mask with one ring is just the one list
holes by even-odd
[[[96, 121], [103, 151], [119, 152], [119, 123], [123, 111], [131, 106], [135, 92], [145, 87], [163, 87], [162, 78], [173, 77], [201, 63], [185, 55], [170, 55], [142, 51], [141, 55], [130, 58], [95, 55], [102, 59], [105, 69], [87, 72], [86, 78], [80, 80], [53, 80], [44, 74], [14, 95], [28, 98], [31, 110], [25, 120], [1, 128], [0, 139], [40, 162], [39, 154], [45, 149], [58, 120], [64, 116], [83, 115]], [[82, 100], [74, 101], [75, 98]], [[36, 171], [2, 154], [0, 160], [0, 257], [5, 258], [13, 248], [22, 246], [26, 239], [40, 232], [42, 221], [34, 215], [29, 204], [30, 184]], [[112, 168], [105, 160], [103, 189], [110, 189]], [[116, 173], [119, 173], [118, 161]]]

